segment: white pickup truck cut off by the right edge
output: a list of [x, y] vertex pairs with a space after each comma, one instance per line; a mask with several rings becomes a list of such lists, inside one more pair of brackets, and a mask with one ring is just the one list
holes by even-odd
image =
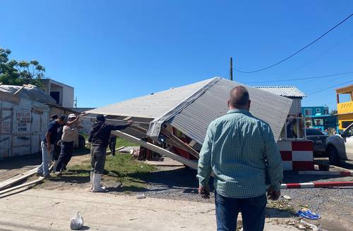
[[340, 165], [340, 160], [353, 161], [353, 123], [341, 135], [326, 139], [326, 153], [331, 165]]

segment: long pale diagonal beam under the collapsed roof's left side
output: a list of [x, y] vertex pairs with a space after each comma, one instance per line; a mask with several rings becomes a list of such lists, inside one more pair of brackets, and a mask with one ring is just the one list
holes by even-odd
[[166, 149], [162, 149], [160, 146], [156, 146], [155, 144], [145, 142], [142, 139], [138, 139], [136, 137], [133, 137], [132, 135], [128, 135], [128, 134], [121, 132], [121, 131], [112, 131], [112, 134], [116, 135], [117, 137], [127, 139], [130, 142], [140, 144], [140, 146], [144, 146], [146, 149], [150, 149], [151, 151], [155, 151], [158, 154], [168, 156], [168, 157], [172, 158], [174, 161], [179, 161], [180, 163], [183, 163], [184, 165], [189, 166], [190, 168], [193, 168], [193, 169], [198, 168], [197, 162], [191, 161], [187, 158], [184, 158], [182, 156], [174, 154], [171, 151], [168, 151]]

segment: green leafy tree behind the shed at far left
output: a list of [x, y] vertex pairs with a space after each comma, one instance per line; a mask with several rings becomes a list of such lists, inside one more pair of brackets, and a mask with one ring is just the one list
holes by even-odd
[[42, 86], [40, 80], [44, 78], [45, 68], [36, 60], [10, 60], [9, 49], [0, 47], [0, 82], [4, 85], [36, 85]]

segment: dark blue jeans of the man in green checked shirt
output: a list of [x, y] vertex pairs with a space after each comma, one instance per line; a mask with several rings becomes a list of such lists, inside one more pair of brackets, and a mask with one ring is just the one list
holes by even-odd
[[244, 231], [262, 231], [265, 226], [266, 203], [265, 195], [236, 199], [215, 192], [217, 230], [237, 230], [237, 217], [241, 212]]

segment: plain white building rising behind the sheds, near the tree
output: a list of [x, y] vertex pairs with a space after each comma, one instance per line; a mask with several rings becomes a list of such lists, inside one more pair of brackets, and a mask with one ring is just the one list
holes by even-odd
[[42, 82], [44, 85], [42, 89], [56, 100], [56, 104], [64, 108], [73, 108], [73, 87], [51, 79], [43, 79]]

